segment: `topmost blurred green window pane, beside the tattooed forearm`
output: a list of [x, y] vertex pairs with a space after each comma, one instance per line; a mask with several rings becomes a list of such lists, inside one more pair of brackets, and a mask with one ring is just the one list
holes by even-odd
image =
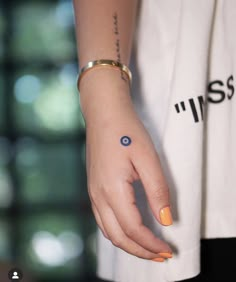
[[70, 60], [76, 47], [72, 1], [15, 1], [12, 54], [16, 59]]

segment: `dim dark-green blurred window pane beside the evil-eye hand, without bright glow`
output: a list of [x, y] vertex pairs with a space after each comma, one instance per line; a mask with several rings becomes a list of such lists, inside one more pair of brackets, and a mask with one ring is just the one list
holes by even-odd
[[40, 144], [27, 138], [19, 140], [16, 172], [21, 204], [75, 205], [84, 201], [87, 191], [82, 145]]

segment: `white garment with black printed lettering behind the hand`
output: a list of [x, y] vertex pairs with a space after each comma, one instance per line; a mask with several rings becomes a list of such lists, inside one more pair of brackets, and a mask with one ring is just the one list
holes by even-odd
[[97, 275], [169, 282], [200, 272], [200, 239], [236, 237], [236, 1], [143, 0], [131, 59], [132, 99], [159, 154], [173, 225], [152, 215], [134, 183], [143, 222], [173, 258], [140, 259], [97, 234]]

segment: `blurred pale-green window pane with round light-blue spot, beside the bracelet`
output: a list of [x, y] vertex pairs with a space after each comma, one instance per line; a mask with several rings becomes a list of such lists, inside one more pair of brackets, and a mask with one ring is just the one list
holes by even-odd
[[76, 89], [77, 68], [24, 70], [14, 84], [14, 123], [17, 132], [48, 138], [75, 136], [84, 131]]

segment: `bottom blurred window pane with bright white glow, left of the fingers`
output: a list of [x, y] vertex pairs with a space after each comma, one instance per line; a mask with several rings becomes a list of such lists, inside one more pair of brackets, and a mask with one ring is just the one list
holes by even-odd
[[70, 213], [40, 212], [22, 217], [20, 263], [35, 277], [69, 279], [82, 274], [84, 241], [79, 222], [79, 215]]

